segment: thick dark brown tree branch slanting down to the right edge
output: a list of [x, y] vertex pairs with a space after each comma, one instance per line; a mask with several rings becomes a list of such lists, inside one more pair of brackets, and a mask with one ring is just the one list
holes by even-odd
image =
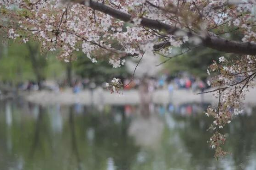
[[[124, 22], [131, 22], [132, 20], [132, 15], [114, 9], [111, 6], [105, 5], [104, 3], [96, 2], [94, 0], [86, 0], [84, 1], [84, 4], [93, 10], [101, 11]], [[198, 35], [156, 20], [151, 20], [148, 18], [141, 19], [142, 21], [140, 25], [143, 27], [157, 29], [168, 34], [182, 33], [184, 36], [199, 38], [201, 40], [201, 45], [204, 47], [209, 47], [211, 49], [226, 53], [256, 55], [256, 44], [227, 40], [207, 31], [204, 33], [204, 35]], [[170, 46], [168, 42], [161, 42], [156, 44], [154, 48], [159, 49], [160, 47], [167, 46]]]

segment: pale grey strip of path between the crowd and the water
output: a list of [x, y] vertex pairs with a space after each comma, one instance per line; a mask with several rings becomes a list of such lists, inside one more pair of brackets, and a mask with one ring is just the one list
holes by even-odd
[[[139, 104], [140, 96], [138, 90], [133, 89], [129, 91], [124, 91], [123, 95], [117, 95], [110, 93], [109, 91], [103, 90], [102, 88], [97, 88], [93, 92], [89, 90], [83, 90], [80, 93], [73, 93], [71, 89], [66, 89], [62, 92], [50, 92], [50, 91], [40, 91], [40, 92], [30, 92], [23, 93], [25, 99], [30, 102], [38, 104]], [[168, 90], [156, 90], [152, 93], [152, 102], [155, 104], [168, 104], [172, 103], [174, 105], [180, 105], [185, 103], [210, 103], [215, 104], [217, 99], [212, 93], [199, 94], [192, 92], [191, 90], [174, 90], [172, 94], [169, 94]], [[247, 92], [245, 104], [256, 105], [256, 88], [251, 89]]]

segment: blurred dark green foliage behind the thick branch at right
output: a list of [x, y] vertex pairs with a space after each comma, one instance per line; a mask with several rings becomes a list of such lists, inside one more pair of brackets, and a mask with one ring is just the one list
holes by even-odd
[[[230, 30], [233, 31], [230, 32]], [[231, 29], [227, 24], [217, 27], [211, 31], [216, 34], [226, 32], [226, 34], [220, 34], [219, 36], [227, 39], [239, 40], [243, 38], [243, 35], [238, 32], [238, 29]], [[234, 55], [222, 53], [221, 51], [216, 51], [214, 49], [200, 47], [192, 49], [184, 55], [171, 59], [165, 66], [171, 74], [175, 75], [180, 71], [186, 71], [204, 79], [208, 76], [206, 69], [208, 69], [208, 67], [213, 63], [213, 60], [218, 61], [218, 58], [221, 56], [233, 57]]]

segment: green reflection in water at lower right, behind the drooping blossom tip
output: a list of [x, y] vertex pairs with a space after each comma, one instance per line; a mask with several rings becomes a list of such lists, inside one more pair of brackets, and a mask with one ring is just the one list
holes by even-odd
[[[256, 143], [255, 116], [241, 116], [224, 129], [229, 133], [227, 150], [232, 154], [224, 159], [213, 158], [213, 150], [206, 143], [206, 131], [212, 120], [203, 114], [193, 116], [170, 115], [173, 126], [166, 126], [157, 149], [142, 150], [145, 158], [135, 162], [132, 170], [184, 169], [184, 170], [245, 170], [254, 162]], [[169, 128], [168, 128], [169, 127]], [[255, 158], [255, 157], [254, 157]], [[250, 161], [249, 161], [250, 160]], [[233, 164], [234, 163], [234, 164]], [[232, 170], [233, 170], [232, 169]], [[249, 170], [249, 169], [248, 169]]]

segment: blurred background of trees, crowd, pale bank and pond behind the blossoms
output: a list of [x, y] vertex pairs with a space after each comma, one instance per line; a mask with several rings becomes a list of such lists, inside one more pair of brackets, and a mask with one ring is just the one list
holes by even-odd
[[[256, 90], [223, 129], [231, 154], [216, 160], [207, 143], [216, 99], [196, 93], [221, 55], [198, 49], [156, 66], [166, 58], [145, 54], [134, 74], [139, 59], [114, 69], [104, 56], [60, 61], [35, 42], [1, 43], [0, 170], [256, 170]], [[113, 77], [119, 94], [107, 90]]]

